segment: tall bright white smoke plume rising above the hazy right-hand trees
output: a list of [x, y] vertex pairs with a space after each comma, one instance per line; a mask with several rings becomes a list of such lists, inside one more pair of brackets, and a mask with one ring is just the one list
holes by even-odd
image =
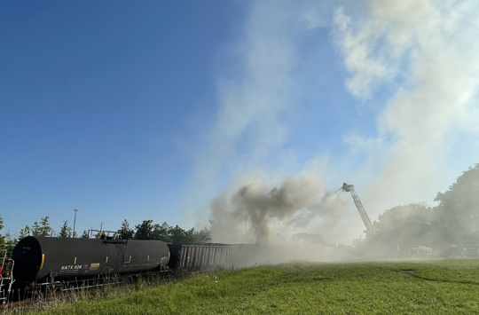
[[[404, 0], [366, 2], [367, 19], [339, 8], [334, 34], [351, 76], [349, 91], [367, 99], [392, 89], [376, 118], [377, 138], [346, 137], [368, 155], [364, 169], [376, 169], [368, 204], [384, 210], [434, 198], [457, 154], [459, 139], [479, 136], [479, 3]], [[475, 155], [475, 157], [473, 157]], [[466, 164], [467, 165], [467, 164]], [[464, 166], [463, 166], [464, 167]], [[455, 169], [459, 174], [459, 170]], [[450, 179], [449, 179], [450, 180]], [[444, 188], [442, 188], [444, 190]]]

